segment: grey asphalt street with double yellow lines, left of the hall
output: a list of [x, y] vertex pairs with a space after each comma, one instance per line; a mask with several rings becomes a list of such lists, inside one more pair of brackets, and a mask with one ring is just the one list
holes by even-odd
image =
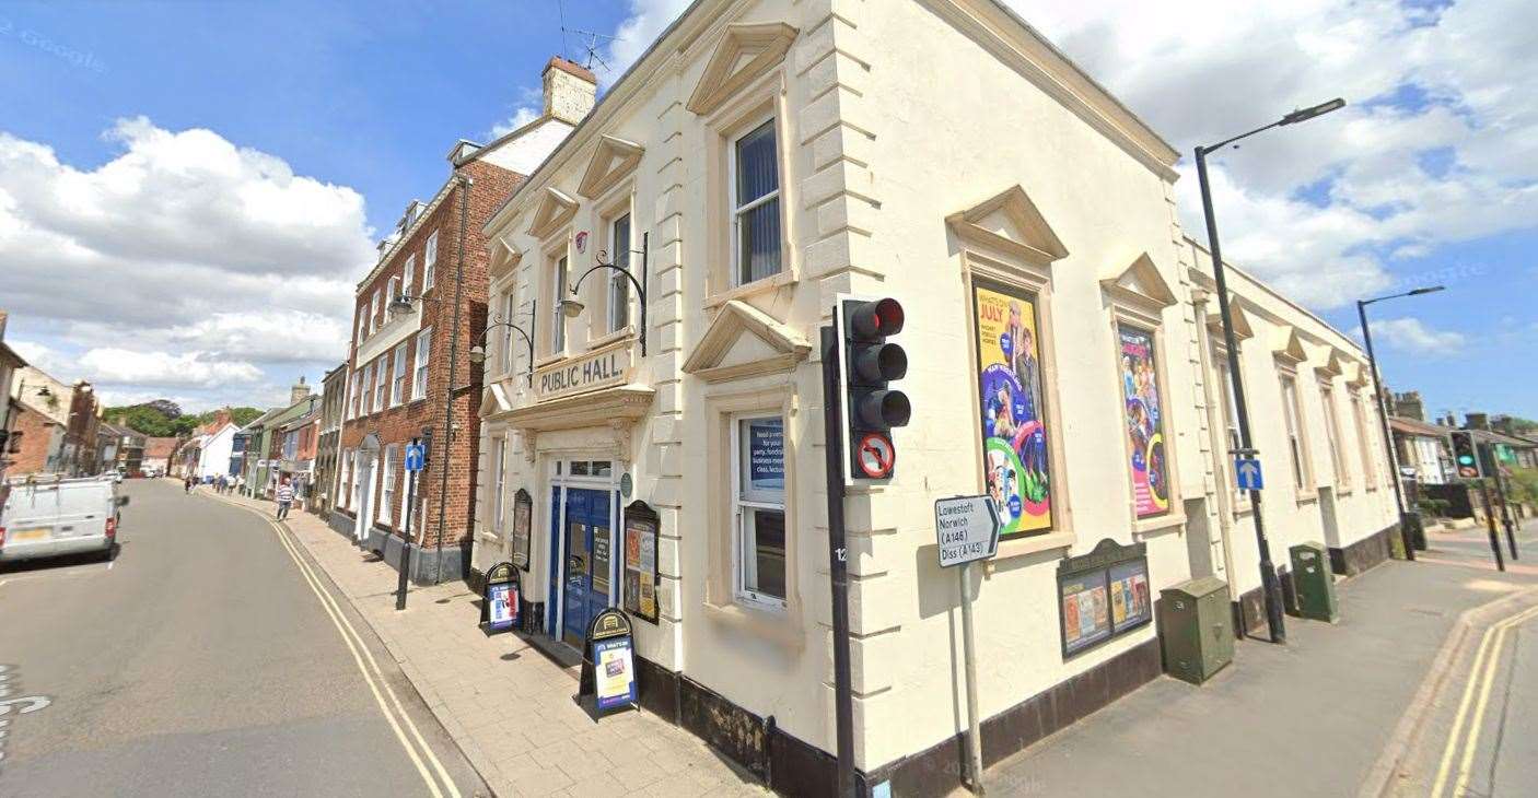
[[[115, 561], [0, 570], [0, 795], [484, 795], [329, 580], [258, 515], [131, 480]], [[317, 590], [325, 590], [325, 600]]]

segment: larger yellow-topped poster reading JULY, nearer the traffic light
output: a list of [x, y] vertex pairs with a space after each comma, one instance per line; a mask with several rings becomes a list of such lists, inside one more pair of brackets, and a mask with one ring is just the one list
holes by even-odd
[[983, 472], [1003, 521], [1000, 535], [1052, 529], [1046, 409], [1034, 295], [977, 281], [978, 404], [983, 415]]

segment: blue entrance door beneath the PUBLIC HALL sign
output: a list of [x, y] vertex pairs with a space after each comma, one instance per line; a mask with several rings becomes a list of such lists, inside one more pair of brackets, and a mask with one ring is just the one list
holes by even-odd
[[568, 487], [566, 560], [561, 563], [561, 640], [581, 646], [588, 623], [609, 606], [609, 497], [608, 490]]

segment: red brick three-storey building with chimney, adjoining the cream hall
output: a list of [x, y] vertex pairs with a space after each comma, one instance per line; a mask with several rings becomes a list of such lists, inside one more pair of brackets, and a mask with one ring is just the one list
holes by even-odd
[[431, 435], [409, 524], [418, 583], [457, 578], [469, 561], [480, 386], [466, 354], [486, 326], [491, 241], [481, 228], [577, 128], [597, 92], [592, 72], [564, 58], [551, 58], [543, 85], [538, 118], [488, 145], [461, 140], [449, 151], [448, 180], [429, 201], [406, 208], [357, 286], [332, 526], [400, 567], [404, 446]]

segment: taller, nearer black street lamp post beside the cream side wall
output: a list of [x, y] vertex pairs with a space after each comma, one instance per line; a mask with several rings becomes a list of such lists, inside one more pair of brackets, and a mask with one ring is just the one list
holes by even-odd
[[[1293, 111], [1264, 128], [1257, 128], [1247, 134], [1235, 135], [1212, 146], [1197, 148], [1197, 180], [1201, 183], [1201, 212], [1207, 221], [1207, 249], [1212, 252], [1212, 277], [1218, 284], [1218, 314], [1223, 318], [1223, 343], [1227, 346], [1229, 380], [1233, 391], [1235, 421], [1240, 427], [1240, 451], [1232, 457], [1255, 455], [1255, 444], [1249, 429], [1249, 406], [1244, 401], [1244, 380], [1240, 374], [1240, 349], [1233, 337], [1233, 314], [1229, 311], [1229, 283], [1223, 268], [1223, 249], [1218, 243], [1218, 220], [1212, 211], [1212, 186], [1207, 181], [1207, 154], [1217, 152], [1240, 138], [1247, 138], [1272, 128], [1307, 121], [1313, 117], [1329, 114], [1346, 106], [1346, 100], [1335, 98], [1312, 108]], [[1250, 518], [1255, 520], [1255, 547], [1260, 550], [1260, 584], [1266, 603], [1266, 627], [1272, 643], [1286, 643], [1287, 629], [1281, 617], [1281, 583], [1277, 580], [1277, 566], [1270, 561], [1270, 543], [1266, 540], [1266, 523], [1261, 512], [1260, 490], [1250, 490]]]

